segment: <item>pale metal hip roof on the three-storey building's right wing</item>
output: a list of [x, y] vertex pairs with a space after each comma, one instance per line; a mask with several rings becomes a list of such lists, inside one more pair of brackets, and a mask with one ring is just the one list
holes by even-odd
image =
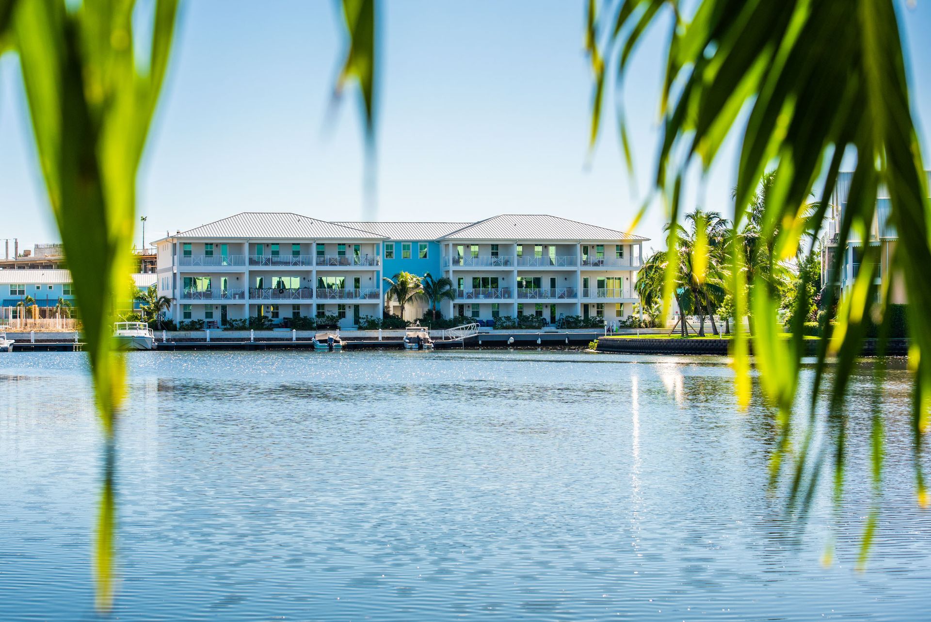
[[442, 239], [447, 240], [551, 240], [586, 242], [594, 240], [646, 241], [623, 231], [607, 229], [595, 224], [579, 223], [546, 214], [502, 214], [470, 224]]

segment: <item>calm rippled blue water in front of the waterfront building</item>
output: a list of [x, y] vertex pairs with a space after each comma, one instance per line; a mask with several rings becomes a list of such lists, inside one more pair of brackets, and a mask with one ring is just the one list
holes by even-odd
[[[134, 353], [119, 427], [119, 620], [914, 620], [931, 609], [908, 379], [883, 522], [865, 465], [802, 529], [766, 492], [762, 406], [715, 358]], [[806, 376], [807, 377], [807, 376]], [[759, 399], [755, 402], [759, 404]], [[0, 619], [95, 619], [101, 434], [84, 358], [0, 355]], [[820, 558], [837, 540], [830, 567]]]

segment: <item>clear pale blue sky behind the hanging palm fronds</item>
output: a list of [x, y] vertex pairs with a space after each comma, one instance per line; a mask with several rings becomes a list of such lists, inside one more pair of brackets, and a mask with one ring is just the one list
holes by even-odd
[[[627, 77], [635, 189], [616, 140], [613, 95], [587, 158], [585, 4], [384, 3], [377, 162], [367, 194], [357, 102], [331, 106], [344, 53], [336, 4], [186, 3], [139, 177], [147, 241], [244, 210], [323, 220], [368, 219], [372, 210], [377, 220], [550, 213], [627, 229], [653, 175], [666, 34], [649, 34]], [[902, 11], [912, 98], [925, 124], [928, 4]], [[928, 138], [923, 129], [925, 156]], [[700, 201], [725, 214], [735, 171], [729, 151]], [[699, 197], [687, 200], [691, 209]], [[19, 237], [20, 249], [58, 239], [11, 55], [0, 61], [0, 210], [0, 235]], [[647, 248], [661, 247], [662, 224], [654, 206], [637, 229], [654, 239]]]

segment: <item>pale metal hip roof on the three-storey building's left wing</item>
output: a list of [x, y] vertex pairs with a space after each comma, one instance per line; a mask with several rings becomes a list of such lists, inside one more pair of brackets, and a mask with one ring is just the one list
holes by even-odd
[[[243, 211], [169, 237], [382, 239], [384, 236], [287, 211]], [[164, 239], [164, 238], [163, 238]]]

